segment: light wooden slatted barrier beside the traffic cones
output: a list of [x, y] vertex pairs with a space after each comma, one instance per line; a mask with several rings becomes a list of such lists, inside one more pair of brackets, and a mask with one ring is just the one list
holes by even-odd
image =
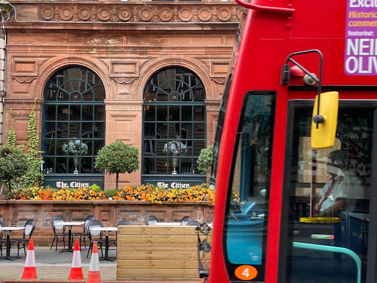
[[[117, 280], [193, 280], [198, 271], [195, 226], [122, 226], [118, 229]], [[206, 238], [200, 235], [203, 240]], [[207, 239], [210, 242], [210, 237]], [[210, 254], [206, 254], [210, 259]]]

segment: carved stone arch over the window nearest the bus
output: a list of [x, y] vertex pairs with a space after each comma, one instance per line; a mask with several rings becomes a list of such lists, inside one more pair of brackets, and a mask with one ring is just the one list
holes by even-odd
[[142, 75], [140, 75], [137, 83], [136, 89], [138, 93], [136, 93], [135, 97], [142, 100], [142, 91], [150, 77], [159, 69], [172, 66], [184, 67], [193, 71], [203, 82], [203, 85], [206, 89], [207, 100], [214, 97], [214, 89], [211, 83], [211, 79], [208, 75], [209, 70], [203, 62], [195, 58], [176, 58], [169, 55], [167, 55], [165, 58], [161, 57], [152, 59], [140, 68], [140, 74]]

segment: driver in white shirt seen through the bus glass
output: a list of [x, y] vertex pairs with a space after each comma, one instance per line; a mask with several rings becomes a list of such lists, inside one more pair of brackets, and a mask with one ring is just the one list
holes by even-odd
[[341, 150], [330, 152], [326, 168], [331, 178], [319, 192], [320, 200], [315, 206], [315, 216], [336, 217], [347, 204], [349, 181], [344, 173], [345, 159]]

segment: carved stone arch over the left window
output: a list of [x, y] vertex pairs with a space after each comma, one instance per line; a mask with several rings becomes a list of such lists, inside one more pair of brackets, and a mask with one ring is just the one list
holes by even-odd
[[[51, 77], [51, 75], [56, 72], [58, 69], [70, 66], [70, 65], [80, 65], [84, 66], [86, 68], [91, 69], [93, 72], [96, 72], [98, 76], [101, 78], [104, 87], [105, 87], [105, 93], [110, 93], [112, 90], [111, 88], [111, 82], [109, 79], [109, 74], [105, 73], [105, 68], [101, 68], [99, 62], [93, 62], [90, 59], [86, 58], [79, 58], [79, 57], [65, 57], [60, 58], [56, 60], [55, 58], [52, 58], [46, 62], [44, 62], [44, 65], [47, 65], [46, 68], [42, 69], [40, 68], [40, 75], [37, 78], [36, 81], [36, 87], [35, 87], [35, 93], [38, 93], [38, 97], [43, 100], [43, 91], [46, 86], [46, 83], [48, 79]], [[42, 69], [42, 70], [41, 70]], [[108, 95], [106, 95], [108, 96]]]

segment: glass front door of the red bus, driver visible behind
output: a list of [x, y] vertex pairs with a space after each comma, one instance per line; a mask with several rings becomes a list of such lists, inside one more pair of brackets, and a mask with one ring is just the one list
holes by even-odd
[[377, 102], [339, 101], [335, 143], [326, 149], [311, 148], [312, 106], [289, 104], [280, 276], [289, 283], [376, 282], [370, 212], [377, 205]]

